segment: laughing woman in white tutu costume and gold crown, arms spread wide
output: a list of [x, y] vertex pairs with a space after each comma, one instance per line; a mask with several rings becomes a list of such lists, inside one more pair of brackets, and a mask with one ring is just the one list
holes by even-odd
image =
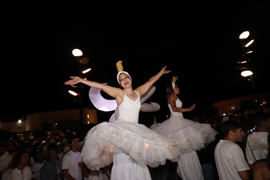
[[[103, 122], [88, 131], [85, 146], [81, 152], [82, 161], [91, 170], [98, 170], [113, 162], [111, 180], [151, 179], [150, 167], [164, 165], [166, 159], [176, 159], [180, 152], [170, 138], [151, 131], [138, 123], [141, 107], [140, 97], [162, 74], [169, 73], [165, 68], [145, 84], [132, 89], [132, 80], [123, 71], [122, 61], [116, 63], [117, 80], [123, 89], [107, 86], [79, 77], [65, 84], [84, 83], [103, 90], [116, 99], [119, 117], [113, 123]], [[177, 161], [177, 160], [176, 160]]]

